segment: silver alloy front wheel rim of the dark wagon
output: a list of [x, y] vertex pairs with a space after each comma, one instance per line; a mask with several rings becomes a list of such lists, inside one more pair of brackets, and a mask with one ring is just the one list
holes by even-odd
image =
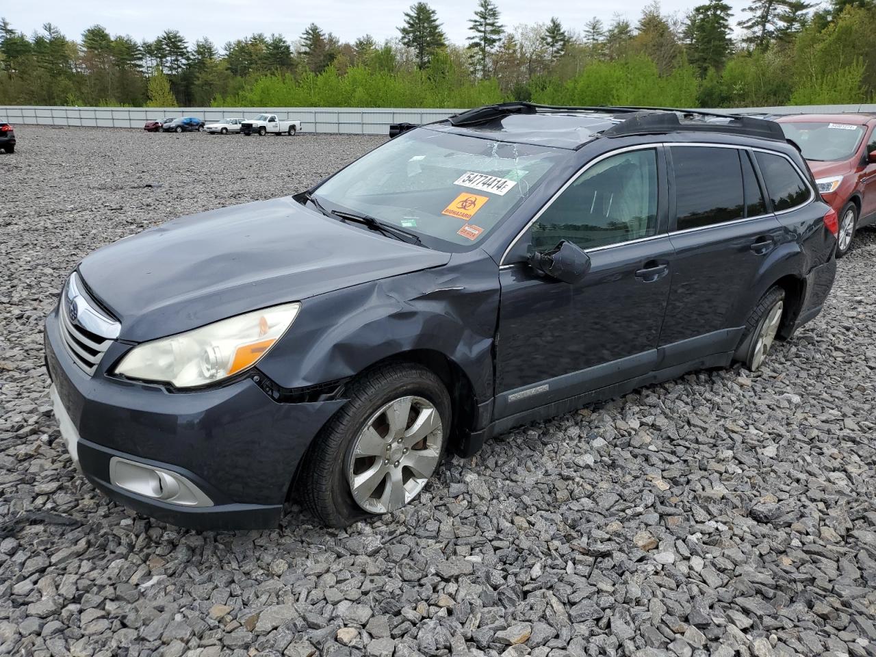
[[350, 447], [347, 481], [357, 505], [386, 513], [417, 497], [438, 466], [442, 442], [442, 418], [427, 399], [382, 406]]

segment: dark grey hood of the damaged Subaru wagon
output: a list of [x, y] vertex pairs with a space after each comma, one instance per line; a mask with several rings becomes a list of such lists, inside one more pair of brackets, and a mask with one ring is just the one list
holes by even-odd
[[142, 342], [449, 259], [284, 197], [175, 219], [98, 249], [79, 271], [121, 321], [119, 338]]

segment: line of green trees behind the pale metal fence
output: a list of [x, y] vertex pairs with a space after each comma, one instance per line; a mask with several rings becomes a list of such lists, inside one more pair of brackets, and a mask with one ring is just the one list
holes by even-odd
[[[101, 25], [68, 39], [0, 19], [0, 104], [449, 107], [503, 100], [567, 105], [752, 107], [867, 102], [876, 90], [876, 0], [723, 0], [684, 15], [647, 4], [608, 25], [507, 26], [477, 0], [464, 44], [425, 2], [398, 36], [342, 42], [319, 25], [297, 39], [252, 34], [217, 47], [166, 30], [154, 40]], [[738, 32], [734, 32], [738, 27]], [[734, 39], [734, 33], [741, 37]]]

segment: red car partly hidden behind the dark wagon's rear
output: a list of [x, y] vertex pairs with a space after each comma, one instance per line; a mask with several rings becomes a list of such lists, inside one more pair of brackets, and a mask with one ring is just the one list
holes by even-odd
[[776, 119], [800, 146], [818, 191], [837, 211], [837, 258], [855, 230], [876, 223], [876, 115], [801, 114]]

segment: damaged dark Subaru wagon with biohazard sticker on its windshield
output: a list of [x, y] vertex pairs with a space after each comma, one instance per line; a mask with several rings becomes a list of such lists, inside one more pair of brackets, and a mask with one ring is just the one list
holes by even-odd
[[822, 308], [837, 216], [772, 122], [513, 103], [305, 193], [83, 259], [46, 320], [86, 477], [181, 526], [343, 526], [448, 450], [641, 385], [757, 370]]

